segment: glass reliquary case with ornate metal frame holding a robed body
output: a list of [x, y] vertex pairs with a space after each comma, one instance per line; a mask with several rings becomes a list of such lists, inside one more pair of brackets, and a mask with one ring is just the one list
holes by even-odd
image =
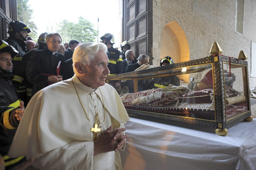
[[251, 121], [247, 61], [205, 58], [107, 77], [131, 117], [163, 123], [227, 128]]

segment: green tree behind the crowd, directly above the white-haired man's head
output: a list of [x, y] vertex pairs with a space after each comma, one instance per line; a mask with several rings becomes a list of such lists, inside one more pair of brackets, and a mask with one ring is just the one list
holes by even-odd
[[60, 27], [58, 32], [62, 35], [63, 42], [69, 42], [72, 39], [79, 42], [94, 42], [97, 37], [93, 24], [81, 16], [78, 18], [78, 23], [62, 20], [58, 25]]

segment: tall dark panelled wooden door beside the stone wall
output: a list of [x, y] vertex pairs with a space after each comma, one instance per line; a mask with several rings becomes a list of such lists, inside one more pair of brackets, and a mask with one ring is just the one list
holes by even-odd
[[153, 0], [123, 0], [122, 41], [128, 41], [135, 57], [147, 54], [152, 64]]

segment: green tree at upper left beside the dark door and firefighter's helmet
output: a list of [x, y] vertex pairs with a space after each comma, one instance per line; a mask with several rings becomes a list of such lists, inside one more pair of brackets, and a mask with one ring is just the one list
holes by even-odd
[[37, 41], [37, 27], [33, 21], [31, 21], [31, 16], [33, 14], [33, 10], [30, 9], [30, 5], [28, 5], [28, 0], [17, 0], [17, 18], [19, 21], [23, 21], [26, 23], [31, 29], [32, 33], [29, 33], [34, 41]]

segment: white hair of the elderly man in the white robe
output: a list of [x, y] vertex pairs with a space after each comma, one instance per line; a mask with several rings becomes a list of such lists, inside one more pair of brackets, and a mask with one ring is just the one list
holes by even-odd
[[[72, 59], [73, 63], [79, 62], [81, 64], [90, 64], [94, 55], [99, 51], [106, 52], [107, 46], [102, 42], [84, 42], [75, 48]], [[73, 70], [74, 73], [77, 74], [75, 67], [73, 67]]]

